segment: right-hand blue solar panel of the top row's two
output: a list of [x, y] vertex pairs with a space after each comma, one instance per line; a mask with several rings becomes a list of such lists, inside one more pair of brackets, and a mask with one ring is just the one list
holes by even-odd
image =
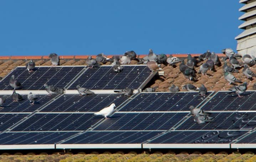
[[120, 73], [113, 71], [112, 66], [89, 68], [69, 89], [77, 85], [88, 89], [138, 89], [151, 74], [147, 66], [124, 66]]

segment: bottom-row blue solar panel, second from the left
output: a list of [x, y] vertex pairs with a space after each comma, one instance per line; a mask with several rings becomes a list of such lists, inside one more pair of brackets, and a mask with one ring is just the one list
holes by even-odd
[[62, 144], [130, 144], [130, 143], [143, 143], [154, 136], [161, 134], [160, 131], [88, 131], [75, 138], [67, 140]]

